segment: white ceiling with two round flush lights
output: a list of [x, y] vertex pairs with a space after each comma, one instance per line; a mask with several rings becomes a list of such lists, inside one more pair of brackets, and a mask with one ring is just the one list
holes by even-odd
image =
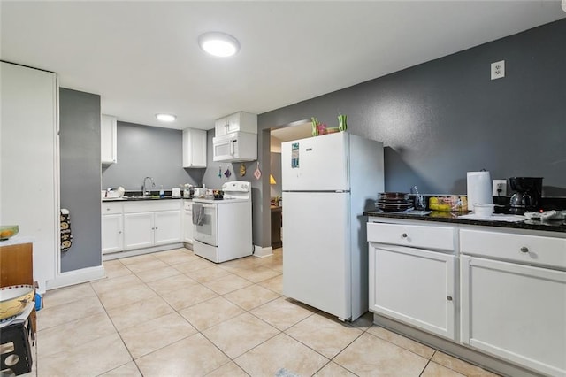
[[[562, 19], [559, 0], [4, 1], [1, 58], [101, 96], [102, 112], [210, 129]], [[198, 35], [241, 42], [233, 58]], [[489, 69], [489, 67], [486, 67]], [[157, 112], [177, 114], [172, 125]]]

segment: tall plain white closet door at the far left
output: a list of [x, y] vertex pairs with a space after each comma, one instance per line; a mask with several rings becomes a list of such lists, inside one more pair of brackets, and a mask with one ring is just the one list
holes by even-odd
[[0, 223], [34, 237], [34, 280], [44, 292], [60, 243], [56, 74], [1, 64]]

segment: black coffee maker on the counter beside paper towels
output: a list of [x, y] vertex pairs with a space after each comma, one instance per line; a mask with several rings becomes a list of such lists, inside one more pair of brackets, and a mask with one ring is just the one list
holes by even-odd
[[524, 212], [539, 210], [542, 196], [541, 177], [512, 177], [509, 178], [509, 186], [515, 191], [509, 202], [511, 213], [522, 215]]

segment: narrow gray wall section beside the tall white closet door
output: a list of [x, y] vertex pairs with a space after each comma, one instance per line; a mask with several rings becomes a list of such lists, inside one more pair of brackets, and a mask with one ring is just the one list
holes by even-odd
[[60, 205], [71, 213], [73, 245], [61, 272], [102, 265], [100, 96], [59, 89]]

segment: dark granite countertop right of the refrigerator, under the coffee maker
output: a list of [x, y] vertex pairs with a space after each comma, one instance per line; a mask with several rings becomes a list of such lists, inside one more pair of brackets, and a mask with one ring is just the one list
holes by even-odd
[[482, 227], [507, 227], [514, 229], [544, 230], [547, 232], [566, 232], [566, 221], [539, 221], [525, 219], [521, 222], [484, 221], [479, 219], [460, 219], [463, 213], [432, 211], [428, 215], [417, 215], [400, 212], [382, 212], [379, 210], [363, 212], [365, 216], [388, 219], [411, 219], [420, 221], [445, 222], [452, 224], [476, 225]]

